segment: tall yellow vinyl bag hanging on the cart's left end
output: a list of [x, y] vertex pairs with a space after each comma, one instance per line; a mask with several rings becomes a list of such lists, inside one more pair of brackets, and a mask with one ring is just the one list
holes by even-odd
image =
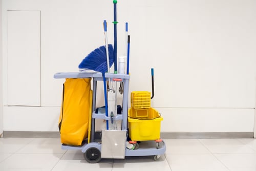
[[66, 78], [59, 116], [61, 143], [81, 145], [88, 137], [90, 91], [91, 78]]

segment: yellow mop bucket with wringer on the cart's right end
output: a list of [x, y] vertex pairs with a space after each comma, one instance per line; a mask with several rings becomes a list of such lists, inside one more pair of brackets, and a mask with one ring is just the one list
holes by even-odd
[[132, 141], [160, 140], [163, 117], [151, 108], [151, 93], [131, 92], [131, 108], [128, 111], [129, 135]]

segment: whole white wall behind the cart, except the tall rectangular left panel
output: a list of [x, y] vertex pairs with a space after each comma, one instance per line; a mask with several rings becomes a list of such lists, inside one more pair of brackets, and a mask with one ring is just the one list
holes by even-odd
[[[41, 11], [40, 107], [7, 105], [7, 10]], [[118, 55], [125, 22], [131, 35], [130, 91], [151, 91], [155, 69], [162, 132], [253, 132], [255, 16], [253, 0], [118, 1]], [[78, 71], [104, 45], [104, 19], [113, 43], [112, 1], [3, 0], [5, 131], [57, 131], [64, 80], [53, 75]]]

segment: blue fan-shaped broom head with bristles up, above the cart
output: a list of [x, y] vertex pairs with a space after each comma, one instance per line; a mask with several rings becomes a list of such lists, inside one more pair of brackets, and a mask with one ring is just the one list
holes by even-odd
[[[109, 48], [109, 61], [110, 67], [114, 63], [114, 48], [111, 44], [108, 46]], [[79, 69], [90, 69], [94, 71], [98, 71], [101, 73], [105, 73], [108, 71], [108, 65], [106, 62], [106, 48], [105, 46], [101, 46], [94, 51], [92, 51], [89, 55], [87, 55], [79, 64]]]

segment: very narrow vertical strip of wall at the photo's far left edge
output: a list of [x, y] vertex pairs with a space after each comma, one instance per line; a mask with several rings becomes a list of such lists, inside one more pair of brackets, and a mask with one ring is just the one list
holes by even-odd
[[[2, 0], [0, 0], [2, 7]], [[2, 8], [0, 8], [0, 135], [3, 134], [3, 55], [2, 55]]]

